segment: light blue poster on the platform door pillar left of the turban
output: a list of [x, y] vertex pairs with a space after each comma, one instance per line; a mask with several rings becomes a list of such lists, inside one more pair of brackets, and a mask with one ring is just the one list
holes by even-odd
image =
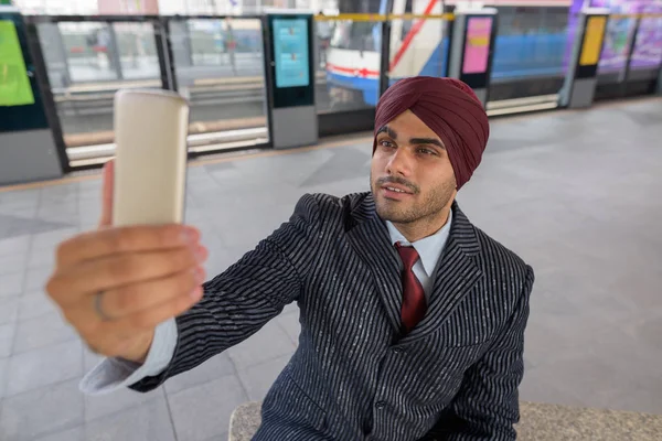
[[274, 20], [276, 87], [300, 87], [310, 84], [308, 60], [308, 21]]

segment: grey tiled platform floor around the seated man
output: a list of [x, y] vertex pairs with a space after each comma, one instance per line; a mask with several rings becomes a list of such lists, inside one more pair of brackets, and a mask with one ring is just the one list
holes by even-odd
[[[190, 168], [188, 220], [221, 271], [306, 192], [367, 189], [371, 143]], [[225, 440], [296, 347], [289, 308], [148, 395], [78, 392], [95, 363], [45, 299], [61, 239], [95, 226], [96, 178], [0, 192], [0, 440]], [[662, 99], [492, 122], [469, 217], [536, 269], [522, 399], [662, 413]]]

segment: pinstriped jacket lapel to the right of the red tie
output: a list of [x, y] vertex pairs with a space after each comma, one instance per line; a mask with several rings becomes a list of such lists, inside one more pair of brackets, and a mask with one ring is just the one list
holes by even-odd
[[473, 259], [479, 251], [473, 226], [457, 203], [453, 203], [452, 212], [450, 235], [435, 270], [435, 284], [426, 315], [402, 343], [424, 338], [438, 330], [482, 277]]

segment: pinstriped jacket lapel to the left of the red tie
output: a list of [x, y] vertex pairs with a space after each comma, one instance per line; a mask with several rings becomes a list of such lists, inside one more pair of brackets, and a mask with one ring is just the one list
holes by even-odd
[[391, 246], [386, 224], [377, 216], [371, 194], [352, 213], [355, 225], [348, 238], [361, 260], [373, 275], [375, 288], [395, 330], [401, 330], [401, 260]]

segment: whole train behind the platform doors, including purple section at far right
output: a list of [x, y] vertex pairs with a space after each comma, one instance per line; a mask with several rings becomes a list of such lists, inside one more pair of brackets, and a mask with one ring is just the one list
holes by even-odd
[[[374, 13], [394, 15], [413, 13], [441, 14], [452, 11], [461, 1], [453, 0], [394, 0], [393, 8], [386, 10], [386, 0], [381, 0], [380, 10]], [[508, 100], [526, 96], [543, 96], [558, 93], [567, 71], [567, 60], [572, 50], [575, 20], [572, 11], [581, 4], [609, 7], [612, 12], [648, 12], [649, 3], [655, 3], [655, 11], [662, 12], [662, 0], [649, 2], [626, 0], [485, 0], [462, 1], [465, 6], [490, 7], [498, 10], [498, 35], [491, 73], [491, 100]], [[456, 4], [458, 3], [458, 4]], [[595, 3], [595, 4], [594, 4]], [[637, 9], [637, 4], [649, 4], [649, 10]], [[659, 10], [659, 11], [658, 11]], [[343, 11], [341, 11], [343, 12]], [[662, 29], [662, 20], [648, 19], [651, 30]], [[655, 22], [653, 22], [655, 21]], [[613, 22], [613, 23], [612, 23]], [[619, 30], [620, 25], [620, 30]], [[634, 20], [618, 19], [609, 23], [607, 45], [618, 46], [618, 41], [632, 37], [623, 26], [632, 31]], [[642, 26], [644, 23], [642, 22]], [[449, 22], [440, 19], [401, 20], [394, 19], [391, 26], [391, 54], [388, 79], [446, 74], [446, 56], [449, 44]], [[651, 73], [662, 60], [662, 42], [654, 32], [648, 32], [649, 63]], [[659, 32], [659, 31], [658, 31]], [[641, 33], [641, 30], [640, 30]], [[651, 36], [652, 35], [652, 36]], [[641, 41], [643, 39], [638, 39]], [[365, 106], [375, 106], [378, 99], [381, 66], [381, 23], [363, 21], [337, 22], [325, 53], [327, 85], [331, 90], [351, 95], [351, 100]], [[620, 44], [620, 47], [627, 44]], [[655, 46], [655, 49], [651, 49]], [[626, 47], [627, 49], [627, 47]], [[651, 55], [652, 51], [652, 55]], [[622, 52], [622, 51], [621, 51]], [[637, 51], [636, 51], [637, 52]], [[613, 71], [609, 62], [601, 63], [600, 73]], [[621, 60], [622, 58], [622, 60]], [[616, 60], [624, 66], [627, 54]], [[617, 78], [615, 75], [613, 78]], [[616, 80], [616, 79], [615, 79]]]

